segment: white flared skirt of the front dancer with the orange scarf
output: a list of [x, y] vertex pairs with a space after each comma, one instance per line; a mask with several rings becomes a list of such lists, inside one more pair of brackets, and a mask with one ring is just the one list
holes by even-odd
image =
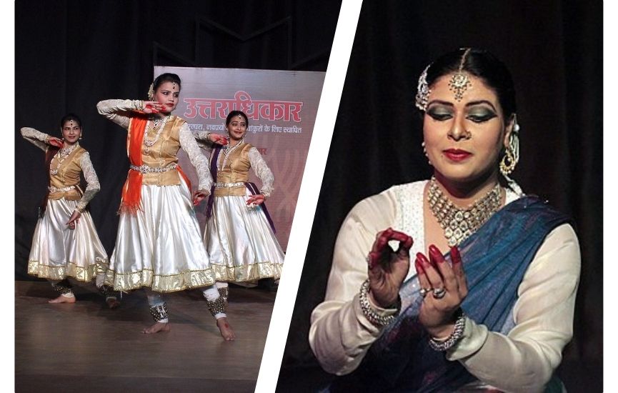
[[215, 282], [186, 184], [141, 186], [141, 209], [120, 214], [105, 283], [175, 292]]

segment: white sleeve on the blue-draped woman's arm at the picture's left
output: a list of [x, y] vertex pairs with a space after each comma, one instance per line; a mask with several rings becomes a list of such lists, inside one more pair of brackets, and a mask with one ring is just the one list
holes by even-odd
[[[365, 257], [377, 232], [394, 226], [396, 209], [394, 193], [384, 191], [359, 202], [339, 230], [326, 297], [312, 312], [309, 329], [309, 344], [327, 372], [354, 371], [382, 334], [384, 327], [374, 326], [364, 316], [359, 289], [367, 279]], [[397, 311], [372, 306], [382, 315]]]

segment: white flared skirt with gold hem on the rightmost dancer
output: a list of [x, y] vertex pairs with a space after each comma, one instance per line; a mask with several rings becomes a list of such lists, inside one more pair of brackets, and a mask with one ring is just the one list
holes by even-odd
[[216, 279], [244, 282], [265, 277], [278, 279], [284, 252], [260, 206], [247, 207], [251, 197], [215, 197], [206, 222], [204, 244]]

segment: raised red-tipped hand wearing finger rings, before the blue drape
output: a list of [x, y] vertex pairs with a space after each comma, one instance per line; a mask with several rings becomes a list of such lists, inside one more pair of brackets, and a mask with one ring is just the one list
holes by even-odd
[[419, 252], [414, 261], [420, 287], [430, 289], [424, 296], [419, 321], [432, 337], [439, 339], [454, 331], [455, 314], [468, 295], [466, 274], [457, 246], [451, 247], [451, 261], [452, 266], [433, 244], [429, 246], [429, 259]]

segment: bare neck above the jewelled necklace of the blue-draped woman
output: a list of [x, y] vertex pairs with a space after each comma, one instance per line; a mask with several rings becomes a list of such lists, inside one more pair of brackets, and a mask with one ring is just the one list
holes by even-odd
[[486, 176], [482, 176], [474, 181], [452, 181], [446, 179], [438, 172], [434, 176], [439, 184], [440, 189], [456, 206], [468, 207], [484, 197], [487, 193], [498, 184], [498, 172], [492, 171]]

